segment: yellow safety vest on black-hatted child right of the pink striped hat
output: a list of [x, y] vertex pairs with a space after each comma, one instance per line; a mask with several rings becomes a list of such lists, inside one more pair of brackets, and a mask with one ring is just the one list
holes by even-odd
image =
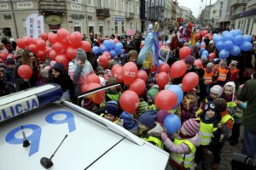
[[201, 145], [208, 145], [212, 141], [213, 132], [218, 128], [213, 127], [213, 123], [207, 124], [200, 122], [200, 136], [201, 136]]

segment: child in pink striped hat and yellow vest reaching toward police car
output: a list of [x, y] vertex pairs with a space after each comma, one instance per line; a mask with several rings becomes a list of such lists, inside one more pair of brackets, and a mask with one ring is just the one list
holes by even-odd
[[166, 149], [171, 151], [171, 163], [177, 169], [190, 169], [192, 167], [196, 147], [200, 145], [198, 135], [200, 127], [200, 121], [194, 118], [183, 122], [173, 142], [166, 133], [160, 133]]

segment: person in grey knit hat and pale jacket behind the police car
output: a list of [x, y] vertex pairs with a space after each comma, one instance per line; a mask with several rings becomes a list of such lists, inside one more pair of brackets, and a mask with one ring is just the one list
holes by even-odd
[[76, 58], [68, 65], [68, 75], [74, 84], [74, 95], [81, 94], [81, 87], [82, 84], [86, 83], [86, 77], [94, 72], [83, 48], [78, 48]]

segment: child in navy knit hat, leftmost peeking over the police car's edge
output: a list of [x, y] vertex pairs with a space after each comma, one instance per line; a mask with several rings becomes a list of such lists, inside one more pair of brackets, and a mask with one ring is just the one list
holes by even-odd
[[111, 122], [117, 122], [120, 115], [119, 104], [117, 101], [108, 101], [104, 107], [104, 113], [101, 115]]

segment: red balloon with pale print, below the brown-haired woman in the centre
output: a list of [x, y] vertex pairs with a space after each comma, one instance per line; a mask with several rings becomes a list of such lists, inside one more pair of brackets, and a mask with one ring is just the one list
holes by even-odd
[[123, 80], [125, 85], [133, 82], [137, 77], [137, 65], [133, 62], [128, 62], [123, 66]]

